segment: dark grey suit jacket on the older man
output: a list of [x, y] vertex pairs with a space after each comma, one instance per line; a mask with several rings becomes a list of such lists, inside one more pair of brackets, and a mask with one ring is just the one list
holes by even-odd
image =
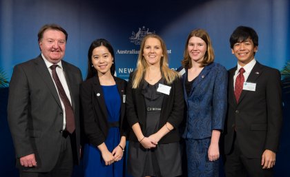
[[[61, 61], [75, 113], [75, 142], [79, 149], [79, 68]], [[41, 55], [14, 67], [8, 98], [8, 123], [17, 158], [35, 154], [37, 167], [24, 170], [50, 171], [61, 149], [63, 110], [57, 88]], [[73, 152], [79, 157], [79, 150]], [[17, 159], [18, 167], [19, 159]], [[78, 163], [78, 162], [76, 162]]]

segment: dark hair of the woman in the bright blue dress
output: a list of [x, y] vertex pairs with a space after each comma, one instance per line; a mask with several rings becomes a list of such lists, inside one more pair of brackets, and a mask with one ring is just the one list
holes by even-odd
[[100, 46], [104, 46], [105, 48], [107, 48], [108, 52], [110, 52], [110, 54], [112, 55], [114, 62], [112, 63], [112, 66], [110, 67], [110, 74], [112, 74], [112, 76], [115, 74], [116, 59], [115, 59], [113, 46], [106, 39], [96, 39], [90, 44], [90, 48], [88, 49], [88, 74], [86, 76], [86, 80], [90, 79], [93, 76], [97, 76], [97, 70], [95, 70], [95, 67], [92, 67], [93, 65], [92, 55], [93, 55], [93, 50]]

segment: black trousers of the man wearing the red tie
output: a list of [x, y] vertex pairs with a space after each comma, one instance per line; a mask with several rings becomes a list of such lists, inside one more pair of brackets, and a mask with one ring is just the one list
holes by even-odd
[[224, 159], [224, 172], [226, 177], [273, 177], [273, 168], [262, 169], [261, 158], [247, 158], [240, 151], [235, 140], [231, 154]]

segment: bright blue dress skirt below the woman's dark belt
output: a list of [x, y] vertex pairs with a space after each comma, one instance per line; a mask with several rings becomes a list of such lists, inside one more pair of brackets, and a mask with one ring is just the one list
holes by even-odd
[[[105, 144], [110, 152], [119, 145], [120, 134], [119, 127], [111, 127], [108, 131], [108, 136]], [[124, 176], [124, 157], [112, 165], [105, 165], [101, 152], [97, 147], [86, 144], [84, 147], [84, 174], [85, 177], [123, 177]]]

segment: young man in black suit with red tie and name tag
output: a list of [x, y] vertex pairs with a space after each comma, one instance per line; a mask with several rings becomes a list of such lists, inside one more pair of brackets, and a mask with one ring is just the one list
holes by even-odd
[[258, 34], [252, 28], [236, 28], [230, 43], [238, 65], [229, 70], [225, 174], [273, 176], [282, 125], [280, 72], [255, 60]]

